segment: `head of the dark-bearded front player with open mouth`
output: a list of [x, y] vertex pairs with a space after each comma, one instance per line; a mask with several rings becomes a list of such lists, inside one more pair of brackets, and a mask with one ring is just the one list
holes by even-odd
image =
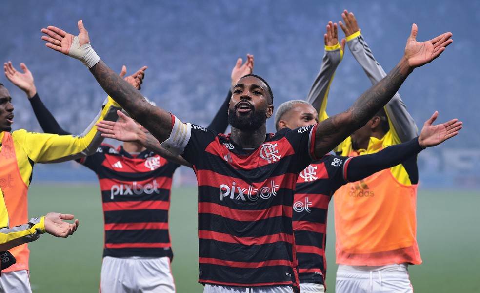
[[247, 76], [235, 85], [228, 108], [228, 122], [240, 130], [253, 130], [272, 117], [273, 105], [265, 83]]

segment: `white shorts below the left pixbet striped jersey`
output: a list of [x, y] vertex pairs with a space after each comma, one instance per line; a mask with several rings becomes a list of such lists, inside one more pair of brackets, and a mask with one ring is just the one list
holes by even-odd
[[101, 264], [101, 293], [175, 293], [170, 258], [110, 257]]

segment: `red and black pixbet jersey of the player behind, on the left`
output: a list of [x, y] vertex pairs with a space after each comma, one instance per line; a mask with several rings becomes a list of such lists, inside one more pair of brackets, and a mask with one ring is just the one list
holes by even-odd
[[105, 243], [103, 256], [173, 257], [168, 232], [172, 176], [180, 165], [145, 150], [102, 144], [80, 161], [100, 181]]

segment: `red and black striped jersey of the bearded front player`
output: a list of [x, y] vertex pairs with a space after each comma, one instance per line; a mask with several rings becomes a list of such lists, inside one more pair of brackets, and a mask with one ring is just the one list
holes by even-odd
[[315, 126], [267, 134], [251, 150], [230, 135], [191, 131], [182, 156], [199, 183], [199, 282], [297, 287], [295, 184], [312, 161]]

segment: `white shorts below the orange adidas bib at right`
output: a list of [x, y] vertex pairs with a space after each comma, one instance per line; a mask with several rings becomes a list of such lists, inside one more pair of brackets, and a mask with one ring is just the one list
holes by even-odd
[[336, 293], [413, 293], [408, 265], [340, 265], [335, 282]]

